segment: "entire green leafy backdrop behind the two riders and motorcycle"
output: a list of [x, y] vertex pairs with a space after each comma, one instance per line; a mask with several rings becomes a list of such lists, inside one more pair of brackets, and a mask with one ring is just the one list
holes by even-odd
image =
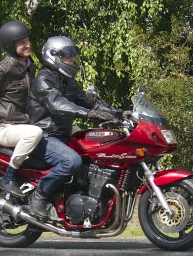
[[1, 0], [0, 7], [0, 25], [18, 19], [31, 28], [38, 68], [47, 38], [66, 35], [81, 51], [83, 89], [94, 83], [107, 102], [126, 109], [142, 85], [176, 132], [179, 150], [167, 164], [192, 169], [192, 1], [39, 0], [27, 11], [25, 0]]

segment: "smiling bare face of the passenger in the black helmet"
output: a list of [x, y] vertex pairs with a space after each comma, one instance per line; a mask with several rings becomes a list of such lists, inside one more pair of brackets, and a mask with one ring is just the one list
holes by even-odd
[[24, 37], [22, 39], [15, 40], [15, 51], [19, 57], [26, 58], [30, 55], [30, 39]]

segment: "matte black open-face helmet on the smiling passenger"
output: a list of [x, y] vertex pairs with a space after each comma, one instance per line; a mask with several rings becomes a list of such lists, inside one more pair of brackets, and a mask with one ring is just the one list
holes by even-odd
[[30, 31], [20, 21], [10, 21], [0, 28], [0, 45], [9, 55], [15, 55], [15, 40], [29, 37]]

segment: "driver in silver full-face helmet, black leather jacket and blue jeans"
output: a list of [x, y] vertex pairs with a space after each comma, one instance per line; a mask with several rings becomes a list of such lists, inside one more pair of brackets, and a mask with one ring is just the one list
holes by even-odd
[[70, 183], [80, 170], [81, 157], [65, 142], [75, 118], [110, 120], [113, 115], [89, 102], [74, 79], [78, 72], [79, 49], [65, 36], [48, 38], [42, 49], [45, 68], [41, 69], [29, 94], [30, 123], [39, 126], [44, 136], [33, 154], [53, 167], [39, 179], [30, 195], [34, 214], [46, 218], [47, 199], [62, 183]]

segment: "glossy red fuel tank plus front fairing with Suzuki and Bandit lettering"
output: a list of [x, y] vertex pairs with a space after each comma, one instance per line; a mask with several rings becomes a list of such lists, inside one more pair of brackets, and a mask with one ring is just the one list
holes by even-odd
[[[168, 144], [163, 138], [160, 133], [163, 129], [169, 128], [139, 120], [129, 136], [119, 131], [89, 129], [72, 135], [67, 145], [93, 163], [127, 169], [144, 158], [176, 150], [176, 144]], [[138, 148], [145, 148], [147, 154], [136, 155]]]

